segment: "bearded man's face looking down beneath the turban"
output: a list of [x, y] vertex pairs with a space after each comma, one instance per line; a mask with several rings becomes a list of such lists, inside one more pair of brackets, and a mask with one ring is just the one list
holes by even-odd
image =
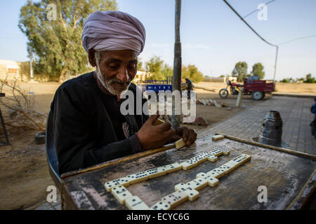
[[114, 95], [129, 88], [137, 73], [137, 52], [133, 50], [107, 50], [96, 60], [96, 73], [100, 83]]

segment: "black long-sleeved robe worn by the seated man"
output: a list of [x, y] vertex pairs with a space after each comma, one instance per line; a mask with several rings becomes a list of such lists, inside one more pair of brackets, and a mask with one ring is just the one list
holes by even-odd
[[[143, 111], [136, 115], [137, 88], [133, 83], [129, 87], [134, 94], [135, 115], [123, 116], [119, 106], [124, 99], [117, 103], [116, 97], [102, 92], [93, 72], [58, 87], [51, 111], [59, 174], [142, 151], [136, 132], [148, 116]], [[129, 127], [127, 138], [123, 123]]]

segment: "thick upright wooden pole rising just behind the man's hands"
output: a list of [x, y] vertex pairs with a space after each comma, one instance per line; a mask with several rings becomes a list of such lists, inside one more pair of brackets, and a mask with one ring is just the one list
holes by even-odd
[[[180, 42], [180, 14], [181, 14], [181, 0], [176, 0], [175, 12], [175, 43], [174, 43], [174, 59], [173, 59], [173, 84], [172, 90], [178, 90], [181, 95], [181, 42]], [[172, 99], [172, 116], [171, 125], [174, 130], [180, 126], [180, 115], [176, 115], [175, 99]], [[180, 103], [181, 105], [181, 103]]]

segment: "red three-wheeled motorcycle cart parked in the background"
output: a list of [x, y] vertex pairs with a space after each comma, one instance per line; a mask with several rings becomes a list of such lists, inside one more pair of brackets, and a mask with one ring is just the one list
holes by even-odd
[[275, 91], [275, 83], [270, 80], [256, 80], [251, 78], [244, 78], [244, 85], [232, 83], [230, 80], [227, 81], [227, 87], [221, 89], [219, 95], [221, 98], [228, 97], [228, 87], [230, 87], [230, 94], [237, 95], [242, 89], [242, 94], [250, 95], [252, 99], [259, 100], [265, 97], [265, 93], [271, 93]]

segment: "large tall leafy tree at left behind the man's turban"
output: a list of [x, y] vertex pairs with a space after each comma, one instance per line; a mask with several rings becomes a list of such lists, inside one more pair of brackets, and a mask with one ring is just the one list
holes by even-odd
[[117, 2], [28, 0], [22, 6], [18, 27], [27, 36], [27, 50], [34, 55], [41, 73], [62, 82], [66, 74], [91, 70], [88, 55], [81, 45], [81, 33], [84, 19], [96, 10], [117, 10]]

